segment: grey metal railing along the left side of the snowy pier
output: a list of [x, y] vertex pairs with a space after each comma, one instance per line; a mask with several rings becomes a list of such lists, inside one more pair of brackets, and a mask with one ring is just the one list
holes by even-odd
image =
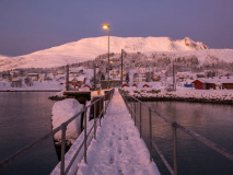
[[[106, 113], [106, 109], [109, 105], [109, 102], [113, 97], [115, 90], [110, 90], [109, 92], [107, 92], [105, 95], [103, 95], [102, 97], [100, 97], [98, 100], [94, 101], [92, 104], [90, 104], [89, 106], [85, 106], [82, 110], [80, 110], [78, 114], [75, 114], [73, 117], [71, 117], [70, 119], [68, 119], [67, 121], [62, 122], [59, 127], [55, 128], [54, 130], [51, 130], [50, 132], [46, 133], [44, 137], [37, 139], [36, 141], [34, 141], [33, 143], [26, 145], [25, 148], [23, 148], [22, 150], [18, 151], [16, 153], [12, 154], [11, 156], [9, 156], [8, 159], [3, 160], [0, 162], [0, 171], [7, 166], [9, 166], [11, 163], [13, 163], [14, 161], [16, 161], [18, 159], [20, 159], [23, 155], [26, 155], [26, 153], [32, 150], [35, 145], [40, 144], [42, 142], [44, 142], [46, 139], [53, 137], [55, 133], [57, 133], [58, 131], [61, 130], [61, 161], [60, 161], [60, 174], [61, 175], [66, 175], [68, 174], [70, 167], [72, 166], [73, 162], [75, 161], [75, 158], [78, 156], [79, 152], [81, 151], [82, 147], [84, 145], [84, 161], [86, 163], [86, 150], [88, 150], [88, 138], [91, 133], [91, 131], [94, 128], [94, 139], [96, 139], [96, 128], [97, 125], [100, 125], [101, 127], [101, 119], [102, 116], [104, 117], [104, 114]], [[96, 116], [96, 103], [100, 102], [100, 114], [98, 116]], [[103, 104], [102, 104], [103, 103]], [[86, 133], [86, 110], [91, 107], [94, 107], [94, 124], [92, 125], [89, 133]], [[84, 113], [84, 139], [82, 141], [82, 143], [80, 144], [80, 147], [78, 148], [75, 154], [73, 155], [73, 158], [71, 159], [69, 165], [67, 166], [67, 168], [65, 170], [65, 150], [66, 150], [66, 130], [67, 130], [67, 126], [73, 121], [77, 117], [79, 117], [82, 113]], [[98, 122], [97, 122], [98, 121]]]

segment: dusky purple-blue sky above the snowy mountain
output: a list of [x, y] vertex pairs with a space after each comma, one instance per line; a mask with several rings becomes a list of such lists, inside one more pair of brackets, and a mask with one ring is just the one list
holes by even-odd
[[232, 0], [0, 0], [0, 55], [20, 56], [107, 35], [233, 48]]

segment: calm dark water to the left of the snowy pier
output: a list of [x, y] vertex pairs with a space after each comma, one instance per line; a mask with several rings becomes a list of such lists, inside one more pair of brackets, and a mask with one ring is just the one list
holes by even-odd
[[[54, 93], [0, 93], [0, 160], [35, 141], [51, 130]], [[42, 175], [49, 174], [58, 159], [53, 138], [35, 147], [0, 174]]]

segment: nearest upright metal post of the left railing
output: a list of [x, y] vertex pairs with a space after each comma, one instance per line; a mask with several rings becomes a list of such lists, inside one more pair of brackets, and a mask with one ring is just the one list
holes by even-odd
[[67, 125], [62, 124], [62, 128], [61, 128], [60, 175], [65, 174], [66, 130], [67, 130]]

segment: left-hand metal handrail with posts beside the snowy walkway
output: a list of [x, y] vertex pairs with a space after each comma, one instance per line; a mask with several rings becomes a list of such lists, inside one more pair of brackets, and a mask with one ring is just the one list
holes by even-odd
[[[89, 106], [84, 107], [83, 109], [81, 109], [78, 114], [75, 114], [73, 117], [71, 117], [70, 119], [68, 119], [67, 121], [62, 122], [60, 126], [58, 126], [57, 128], [53, 129], [51, 131], [47, 132], [46, 135], [44, 135], [42, 138], [37, 139], [36, 141], [27, 144], [26, 147], [24, 147], [23, 149], [19, 150], [18, 152], [15, 152], [14, 154], [10, 155], [9, 158], [7, 158], [5, 160], [1, 161], [0, 162], [0, 171], [7, 166], [9, 166], [11, 163], [13, 163], [14, 161], [16, 161], [20, 156], [23, 156], [26, 154], [26, 152], [28, 152], [30, 150], [32, 150], [35, 145], [38, 145], [40, 144], [42, 142], [44, 142], [46, 139], [48, 139], [49, 137], [54, 136], [55, 133], [57, 133], [58, 131], [62, 130], [62, 135], [61, 135], [61, 174], [67, 174], [69, 172], [69, 168], [70, 166], [72, 165], [72, 163], [74, 162], [75, 158], [72, 158], [72, 163], [71, 165], [68, 165], [67, 170], [65, 171], [65, 150], [66, 149], [66, 128], [67, 126], [73, 120], [75, 119], [77, 117], [79, 117], [83, 112], [86, 113], [88, 108], [94, 106], [94, 109], [96, 108], [96, 103], [97, 102], [102, 102], [104, 103], [104, 105], [100, 105], [100, 115], [97, 116], [97, 118], [95, 117], [96, 116], [96, 112], [94, 110], [94, 124], [93, 126], [91, 127], [90, 131], [88, 135], [85, 135], [85, 138], [83, 140], [83, 142], [81, 143], [80, 148], [78, 149], [78, 153], [74, 154], [75, 156], [79, 154], [81, 148], [83, 147], [83, 143], [86, 142], [86, 139], [88, 137], [90, 136], [91, 131], [93, 130], [93, 128], [95, 128], [95, 131], [96, 131], [96, 119], [98, 119], [100, 121], [100, 126], [101, 126], [101, 116], [106, 113], [106, 108], [108, 107], [109, 105], [109, 102], [113, 97], [113, 94], [114, 94], [115, 90], [110, 90], [109, 92], [107, 92], [105, 95], [103, 95], [102, 97], [100, 97], [98, 100], [94, 101], [92, 104], [90, 104]], [[107, 101], [104, 101], [105, 97], [109, 95], [108, 100]], [[101, 107], [102, 107], [102, 110], [101, 110]], [[85, 115], [85, 118], [86, 120], [86, 115]], [[84, 129], [86, 131], [86, 122], [85, 122], [85, 126], [84, 126]], [[94, 132], [94, 135], [96, 135]], [[86, 151], [88, 148], [85, 148], [85, 151]], [[86, 158], [86, 154], [84, 154], [84, 156]], [[62, 167], [63, 166], [63, 167]]]

